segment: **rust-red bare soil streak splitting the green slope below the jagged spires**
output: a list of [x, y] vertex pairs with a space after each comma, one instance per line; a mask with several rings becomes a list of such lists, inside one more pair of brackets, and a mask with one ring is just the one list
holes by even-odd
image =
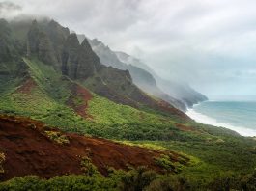
[[86, 113], [86, 108], [88, 107], [88, 101], [93, 97], [91, 93], [85, 88], [72, 84], [71, 96], [67, 104], [81, 117], [92, 118]]

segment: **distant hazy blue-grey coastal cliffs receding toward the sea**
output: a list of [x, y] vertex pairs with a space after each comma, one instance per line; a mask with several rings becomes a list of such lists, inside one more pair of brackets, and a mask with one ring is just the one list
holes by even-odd
[[[85, 36], [79, 37], [80, 40], [83, 38]], [[147, 65], [126, 53], [114, 52], [97, 39], [89, 40], [89, 42], [102, 64], [113, 68], [128, 69], [134, 84], [144, 92], [161, 98], [180, 110], [185, 111], [187, 107], [207, 100], [205, 95], [196, 92], [187, 84], [160, 78]]]

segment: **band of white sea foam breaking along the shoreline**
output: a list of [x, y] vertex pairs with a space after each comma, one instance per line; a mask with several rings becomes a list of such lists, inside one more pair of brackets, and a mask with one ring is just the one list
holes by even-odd
[[209, 116], [206, 116], [204, 114], [201, 114], [199, 112], [196, 112], [193, 109], [188, 109], [186, 112], [186, 115], [189, 116], [194, 121], [196, 121], [197, 123], [204, 123], [204, 124], [211, 124], [213, 126], [226, 127], [240, 133], [242, 136], [248, 136], [248, 137], [256, 136], [256, 130], [254, 129], [249, 129], [242, 126], [235, 126], [235, 125], [232, 125], [231, 123], [217, 122], [217, 120]]

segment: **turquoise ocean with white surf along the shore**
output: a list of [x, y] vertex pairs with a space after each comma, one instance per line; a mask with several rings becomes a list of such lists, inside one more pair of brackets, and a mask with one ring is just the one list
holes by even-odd
[[186, 114], [198, 123], [223, 126], [242, 136], [256, 136], [255, 100], [210, 100], [194, 105]]

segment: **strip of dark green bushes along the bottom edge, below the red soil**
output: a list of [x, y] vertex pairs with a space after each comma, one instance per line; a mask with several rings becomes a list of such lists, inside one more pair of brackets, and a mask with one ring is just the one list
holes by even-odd
[[256, 172], [242, 177], [231, 174], [213, 179], [211, 183], [198, 185], [198, 182], [177, 175], [158, 175], [145, 167], [128, 172], [112, 171], [108, 177], [95, 174], [91, 176], [62, 176], [48, 180], [36, 176], [14, 177], [0, 183], [0, 190], [116, 190], [116, 191], [193, 191], [193, 190], [256, 190]]

